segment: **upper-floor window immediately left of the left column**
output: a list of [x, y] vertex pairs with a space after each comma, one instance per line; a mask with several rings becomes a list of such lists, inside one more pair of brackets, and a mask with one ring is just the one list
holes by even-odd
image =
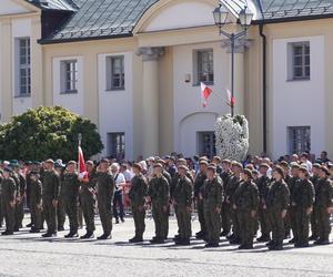
[[124, 57], [107, 58], [108, 91], [124, 90]]

